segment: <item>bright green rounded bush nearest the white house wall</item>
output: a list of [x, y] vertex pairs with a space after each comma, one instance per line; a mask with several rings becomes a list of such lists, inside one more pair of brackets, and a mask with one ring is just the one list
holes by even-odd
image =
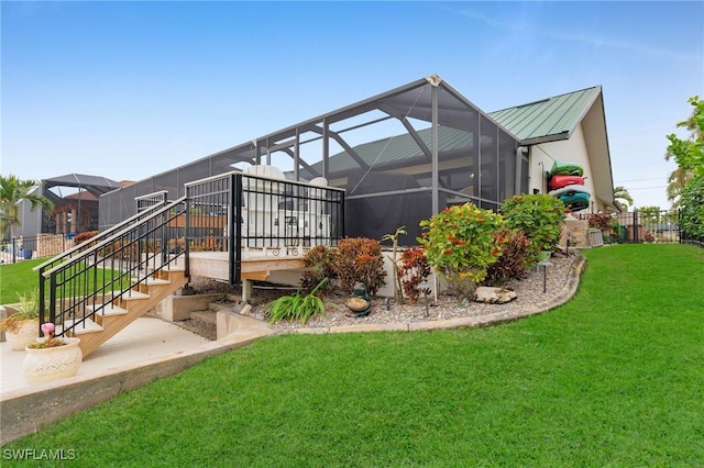
[[553, 250], [560, 241], [560, 222], [565, 218], [565, 205], [561, 200], [546, 194], [518, 194], [502, 205], [506, 226], [522, 231], [530, 241], [530, 252]]

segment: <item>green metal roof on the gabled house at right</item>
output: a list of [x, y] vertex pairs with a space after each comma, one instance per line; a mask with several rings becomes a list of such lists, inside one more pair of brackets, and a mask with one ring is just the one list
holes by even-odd
[[601, 93], [595, 86], [488, 114], [527, 145], [566, 140]]

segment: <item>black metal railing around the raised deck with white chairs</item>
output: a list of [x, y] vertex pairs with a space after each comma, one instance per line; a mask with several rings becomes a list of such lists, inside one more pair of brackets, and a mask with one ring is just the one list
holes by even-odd
[[189, 252], [228, 252], [230, 283], [255, 253], [302, 255], [344, 235], [344, 191], [239, 171], [186, 185]]

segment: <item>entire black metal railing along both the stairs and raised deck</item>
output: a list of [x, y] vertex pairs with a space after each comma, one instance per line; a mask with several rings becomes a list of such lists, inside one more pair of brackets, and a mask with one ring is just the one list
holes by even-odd
[[228, 253], [239, 283], [248, 255], [298, 256], [344, 235], [343, 190], [239, 171], [187, 183], [170, 203], [165, 191], [135, 203], [134, 216], [35, 268], [41, 324], [63, 325], [61, 335], [85, 328], [165, 266], [183, 261], [189, 277], [190, 252]]

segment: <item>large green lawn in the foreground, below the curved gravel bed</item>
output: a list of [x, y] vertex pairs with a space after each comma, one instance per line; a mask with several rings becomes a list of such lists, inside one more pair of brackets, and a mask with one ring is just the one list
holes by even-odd
[[576, 297], [547, 314], [260, 339], [3, 454], [63, 448], [87, 467], [704, 466], [704, 250], [586, 256]]

